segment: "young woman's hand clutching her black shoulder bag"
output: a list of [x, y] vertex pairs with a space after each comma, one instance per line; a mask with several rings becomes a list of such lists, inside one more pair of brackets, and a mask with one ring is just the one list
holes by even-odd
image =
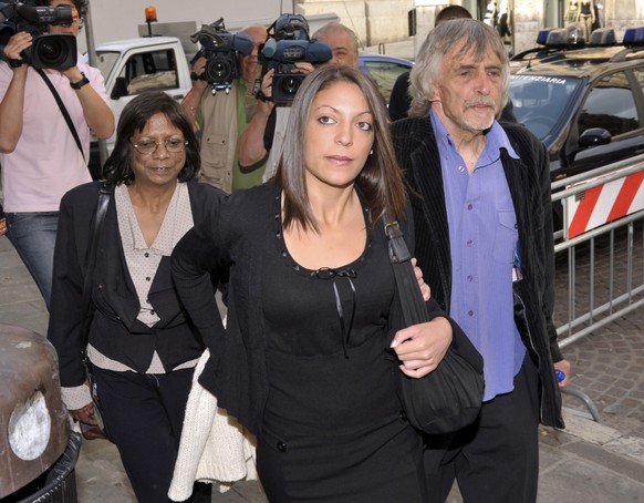
[[438, 367], [451, 338], [451, 325], [439, 317], [398, 330], [391, 347], [401, 360], [401, 371], [411, 378], [422, 378]]

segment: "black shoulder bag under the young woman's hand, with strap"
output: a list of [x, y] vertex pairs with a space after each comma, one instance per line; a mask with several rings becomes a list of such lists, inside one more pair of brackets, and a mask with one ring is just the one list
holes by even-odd
[[[405, 325], [429, 321], [398, 223], [386, 223], [385, 233]], [[482, 358], [463, 331], [454, 331], [454, 340], [434, 371], [420, 379], [398, 374], [405, 413], [418, 430], [428, 434], [450, 433], [476, 420], [484, 392]]]

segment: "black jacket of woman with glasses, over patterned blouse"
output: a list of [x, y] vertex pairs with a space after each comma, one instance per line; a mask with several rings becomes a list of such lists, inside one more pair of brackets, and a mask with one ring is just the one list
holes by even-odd
[[[98, 182], [81, 185], [67, 192], [61, 202], [48, 338], [59, 355], [63, 387], [80, 386], [85, 380], [81, 362], [81, 298], [98, 187]], [[188, 192], [195, 225], [216, 212], [225, 195], [197, 183], [189, 183]], [[162, 258], [152, 281], [149, 301], [160, 320], [147, 327], [136, 319], [141, 306], [125, 263], [116, 205], [111, 197], [92, 280], [96, 310], [90, 342], [106, 357], [139, 373], [145, 373], [155, 350], [168, 371], [204, 351], [204, 341], [188, 324], [179, 302], [170, 275], [170, 257]]]

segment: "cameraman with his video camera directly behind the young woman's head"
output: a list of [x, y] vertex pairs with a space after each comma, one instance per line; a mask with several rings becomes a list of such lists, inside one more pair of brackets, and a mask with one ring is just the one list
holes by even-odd
[[[314, 70], [314, 64], [357, 66], [357, 38], [352, 30], [337, 22], [324, 24], [309, 39], [309, 24], [302, 16], [283, 14], [274, 22], [274, 49], [267, 43], [263, 54], [266, 57], [267, 49], [269, 55], [274, 51], [277, 57], [272, 58], [278, 60], [278, 64], [273, 63], [263, 75], [259, 92], [263, 104], [258, 106], [258, 113], [239, 138], [240, 165], [249, 165], [258, 158], [268, 157], [264, 182], [277, 171], [290, 103], [302, 79]], [[298, 45], [297, 40], [304, 41], [302, 47], [307, 47], [305, 54], [300, 55], [300, 60], [293, 58], [297, 52], [289, 52], [291, 43]], [[285, 44], [284, 49], [280, 50], [280, 44]], [[292, 60], [289, 63], [292, 65], [292, 74], [280, 75], [279, 61], [289, 59]], [[277, 96], [273, 94], [276, 90]]]

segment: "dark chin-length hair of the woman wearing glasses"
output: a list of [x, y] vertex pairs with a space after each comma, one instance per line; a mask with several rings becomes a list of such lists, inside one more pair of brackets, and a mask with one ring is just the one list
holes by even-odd
[[199, 143], [190, 120], [185, 114], [181, 105], [163, 91], [146, 91], [123, 109], [118, 127], [116, 129], [116, 143], [112, 155], [103, 166], [103, 177], [115, 185], [125, 183], [129, 185], [134, 181], [134, 172], [129, 166], [129, 154], [132, 145], [129, 140], [143, 131], [153, 115], [160, 113], [174, 126], [181, 131], [188, 142], [186, 146], [186, 164], [179, 172], [178, 181], [188, 182], [195, 177], [199, 171], [201, 157], [199, 156]]

